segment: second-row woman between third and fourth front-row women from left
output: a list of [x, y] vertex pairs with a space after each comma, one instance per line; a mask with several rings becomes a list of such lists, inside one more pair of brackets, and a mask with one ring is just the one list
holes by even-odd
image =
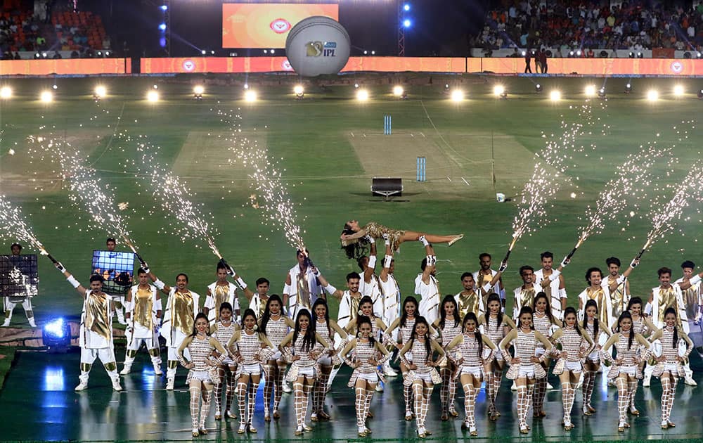
[[[335, 342], [335, 332], [340, 335], [342, 340], [347, 338], [347, 333], [344, 332], [337, 322], [330, 319], [330, 312], [327, 309], [327, 302], [323, 298], [318, 298], [312, 305], [312, 312], [315, 314], [315, 330], [316, 332], [328, 343], [333, 344]], [[325, 397], [327, 397], [327, 383], [330, 379], [330, 372], [332, 372], [333, 366], [333, 356], [337, 352], [335, 349], [330, 349], [329, 352], [324, 354], [318, 360], [320, 365], [320, 374], [315, 380], [315, 385], [313, 387], [312, 394], [312, 413], [310, 414], [310, 420], [317, 421], [319, 419], [329, 420], [330, 416], [325, 412]]]

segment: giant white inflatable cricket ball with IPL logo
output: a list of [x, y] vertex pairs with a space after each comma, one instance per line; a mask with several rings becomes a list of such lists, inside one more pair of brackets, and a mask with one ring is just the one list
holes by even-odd
[[349, 34], [337, 20], [308, 17], [285, 39], [285, 53], [297, 74], [316, 77], [337, 74], [349, 60]]

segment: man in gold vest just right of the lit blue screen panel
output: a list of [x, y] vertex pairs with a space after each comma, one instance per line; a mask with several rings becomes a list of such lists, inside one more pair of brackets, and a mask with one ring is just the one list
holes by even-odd
[[155, 375], [161, 375], [161, 355], [158, 326], [161, 323], [161, 294], [155, 285], [149, 284], [149, 270], [139, 268], [137, 271], [138, 284], [132, 286], [125, 297], [124, 309], [127, 319], [127, 349], [124, 355], [124, 368], [120, 374], [131, 372], [134, 357], [144, 343], [151, 356]]

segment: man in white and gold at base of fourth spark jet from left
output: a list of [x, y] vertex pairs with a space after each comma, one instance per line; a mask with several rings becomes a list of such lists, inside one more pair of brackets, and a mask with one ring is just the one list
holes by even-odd
[[288, 315], [295, 319], [298, 309], [304, 308], [311, 312], [312, 304], [317, 297], [324, 297], [322, 287], [318, 282], [312, 267], [309, 266], [310, 253], [308, 250], [297, 250], [298, 264], [288, 271], [283, 286], [283, 304], [288, 304]]

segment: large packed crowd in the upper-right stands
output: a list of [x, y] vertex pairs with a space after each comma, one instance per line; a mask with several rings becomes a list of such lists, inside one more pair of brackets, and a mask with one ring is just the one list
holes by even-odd
[[[703, 46], [703, 3], [693, 7], [673, 2], [527, 1], [489, 11], [484, 28], [470, 46], [486, 51], [504, 48], [581, 49], [666, 48], [700, 50]], [[592, 52], [592, 51], [591, 51]]]

